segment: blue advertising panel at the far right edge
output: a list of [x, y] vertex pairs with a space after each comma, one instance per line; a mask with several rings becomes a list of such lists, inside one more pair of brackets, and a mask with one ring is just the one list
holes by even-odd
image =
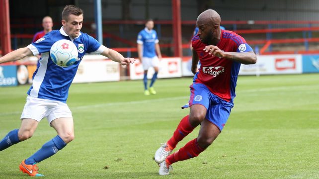
[[319, 73], [319, 55], [303, 55], [303, 73]]

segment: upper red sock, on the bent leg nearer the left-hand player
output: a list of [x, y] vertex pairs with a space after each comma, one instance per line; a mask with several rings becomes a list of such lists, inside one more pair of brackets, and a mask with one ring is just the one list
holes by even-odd
[[195, 127], [190, 125], [189, 115], [182, 118], [177, 126], [177, 129], [174, 131], [173, 136], [167, 141], [168, 147], [173, 150], [176, 147], [177, 143], [183, 140], [183, 138], [186, 137], [189, 133], [191, 133], [194, 128]]

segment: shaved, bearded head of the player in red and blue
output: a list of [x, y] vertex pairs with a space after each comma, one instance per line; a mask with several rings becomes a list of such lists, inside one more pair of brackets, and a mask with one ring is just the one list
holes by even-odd
[[221, 35], [221, 16], [213, 9], [199, 14], [196, 21], [197, 35], [205, 44], [217, 44]]

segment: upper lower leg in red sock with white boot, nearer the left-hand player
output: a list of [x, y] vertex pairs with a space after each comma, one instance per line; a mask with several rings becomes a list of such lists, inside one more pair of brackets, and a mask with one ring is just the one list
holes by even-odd
[[178, 124], [173, 136], [156, 151], [154, 160], [158, 164], [162, 163], [166, 157], [175, 149], [177, 143], [194, 130], [189, 122], [189, 115], [185, 116]]

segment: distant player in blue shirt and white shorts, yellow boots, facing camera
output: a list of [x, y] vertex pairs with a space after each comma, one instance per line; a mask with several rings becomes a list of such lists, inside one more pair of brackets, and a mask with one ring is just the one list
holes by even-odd
[[[137, 37], [137, 49], [139, 59], [142, 61], [144, 69], [144, 94], [150, 95], [156, 94], [153, 87], [159, 73], [159, 64], [161, 59], [159, 38], [154, 28], [154, 21], [149, 19], [146, 21], [145, 28], [140, 31]], [[158, 56], [157, 56], [157, 55]], [[147, 73], [150, 67], [154, 68], [154, 75], [151, 80], [150, 88], [148, 89]]]

